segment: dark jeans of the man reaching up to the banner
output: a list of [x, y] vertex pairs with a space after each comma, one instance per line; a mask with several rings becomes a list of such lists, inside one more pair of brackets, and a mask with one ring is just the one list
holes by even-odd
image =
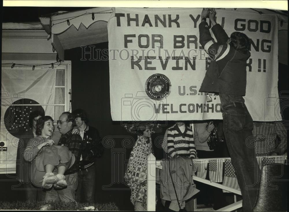
[[250, 138], [253, 137], [253, 120], [244, 103], [222, 105], [222, 112], [223, 131], [240, 185], [243, 210], [252, 211], [259, 182], [255, 149], [250, 146]]

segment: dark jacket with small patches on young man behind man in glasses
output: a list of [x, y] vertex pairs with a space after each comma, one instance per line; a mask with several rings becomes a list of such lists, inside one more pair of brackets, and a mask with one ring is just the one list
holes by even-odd
[[86, 169], [94, 164], [94, 159], [103, 153], [103, 145], [101, 137], [96, 128], [86, 126], [81, 145], [81, 158], [79, 169]]

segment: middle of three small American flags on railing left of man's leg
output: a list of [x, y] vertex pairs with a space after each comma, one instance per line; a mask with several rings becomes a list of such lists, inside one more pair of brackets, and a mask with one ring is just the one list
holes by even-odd
[[209, 178], [210, 182], [222, 182], [223, 181], [223, 160], [209, 160]]

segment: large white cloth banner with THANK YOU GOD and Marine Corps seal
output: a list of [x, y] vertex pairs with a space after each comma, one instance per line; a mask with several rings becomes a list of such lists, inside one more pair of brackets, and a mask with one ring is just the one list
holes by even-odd
[[[201, 10], [114, 9], [108, 22], [112, 120], [222, 119], [219, 97], [199, 92], [210, 63], [199, 43]], [[244, 99], [253, 120], [280, 120], [277, 16], [217, 10], [217, 23], [228, 35], [240, 31], [251, 39]]]

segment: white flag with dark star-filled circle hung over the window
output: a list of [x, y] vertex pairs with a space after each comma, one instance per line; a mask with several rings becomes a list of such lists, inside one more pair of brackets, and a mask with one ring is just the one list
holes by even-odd
[[[0, 154], [0, 173], [16, 166], [19, 137], [30, 129], [29, 114], [44, 110], [54, 118], [56, 68], [1, 68], [1, 131], [0, 141], [7, 151]], [[43, 105], [43, 106], [42, 106]], [[7, 161], [7, 164], [6, 164]], [[15, 163], [11, 161], [16, 161]]]

